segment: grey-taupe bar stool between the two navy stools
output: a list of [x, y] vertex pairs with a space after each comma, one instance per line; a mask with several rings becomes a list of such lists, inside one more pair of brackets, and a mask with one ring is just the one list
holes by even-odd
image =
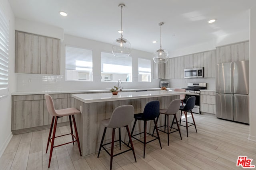
[[[178, 119], [176, 117], [176, 113], [179, 111], [179, 109], [180, 109], [180, 99], [172, 100], [172, 102], [170, 102], [167, 109], [160, 109], [160, 114], [164, 114], [165, 116], [167, 116], [167, 125], [166, 125], [166, 122], [164, 122], [164, 125], [158, 127], [158, 128], [164, 127], [164, 131], [162, 131], [161, 129], [158, 129], [158, 130], [166, 133], [165, 127], [167, 127], [168, 146], [169, 146], [169, 135], [170, 135], [170, 133], [173, 133], [173, 132], [176, 132], [176, 131], [179, 131], [179, 133], [180, 133], [180, 127], [179, 127], [179, 124], [178, 124]], [[175, 119], [175, 121], [176, 121], [175, 124], [177, 124], [177, 129], [173, 128], [172, 125], [170, 127], [169, 115], [174, 115], [174, 117], [172, 119], [172, 125], [174, 124], [174, 119]], [[156, 119], [156, 123], [158, 122], [158, 118], [159, 118], [159, 116]], [[176, 131], [172, 131], [172, 128], [175, 129]], [[170, 132], [170, 131], [172, 131], [172, 132]], [[154, 133], [154, 131], [153, 131], [153, 133]], [[180, 139], [182, 140], [181, 133], [180, 133]]]

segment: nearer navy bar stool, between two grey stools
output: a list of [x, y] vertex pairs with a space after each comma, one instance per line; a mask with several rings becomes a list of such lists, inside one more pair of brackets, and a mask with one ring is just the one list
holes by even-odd
[[[159, 116], [159, 110], [160, 110], [159, 107], [160, 107], [159, 101], [158, 101], [158, 100], [153, 100], [153, 101], [150, 101], [150, 102], [148, 102], [148, 103], [146, 104], [146, 106], [144, 107], [143, 113], [138, 113], [138, 114], [135, 114], [135, 115], [134, 115], [135, 121], [134, 121], [134, 124], [133, 124], [133, 127], [132, 127], [131, 136], [132, 136], [134, 139], [140, 141], [139, 139], [137, 139], [137, 138], [134, 137], [134, 136], [140, 135], [140, 134], [144, 133], [144, 141], [140, 141], [141, 143], [144, 144], [143, 158], [145, 158], [146, 144], [149, 143], [149, 142], [152, 142], [152, 141], [158, 139], [159, 144], [160, 144], [160, 147], [161, 147], [161, 149], [162, 149], [162, 145], [161, 145], [161, 141], [160, 141], [160, 137], [159, 137], [157, 125], [156, 125], [156, 120], [155, 120], [155, 118]], [[137, 120], [142, 120], [142, 121], [144, 121], [144, 132], [141, 132], [141, 133], [132, 135]], [[154, 136], [154, 135], [152, 135], [152, 136], [154, 136], [156, 139], [152, 139], [151, 141], [146, 142], [146, 135], [147, 135], [147, 134], [151, 135], [150, 133], [147, 133], [147, 129], [146, 129], [146, 127], [147, 127], [147, 121], [149, 121], [149, 120], [154, 120], [154, 125], [155, 125], [154, 128], [156, 129], [157, 137]], [[129, 145], [129, 144], [128, 144], [128, 145]]]

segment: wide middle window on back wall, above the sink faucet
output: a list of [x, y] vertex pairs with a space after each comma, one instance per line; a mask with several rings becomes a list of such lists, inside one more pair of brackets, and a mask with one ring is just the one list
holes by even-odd
[[132, 58], [114, 57], [112, 53], [101, 53], [101, 81], [132, 82]]

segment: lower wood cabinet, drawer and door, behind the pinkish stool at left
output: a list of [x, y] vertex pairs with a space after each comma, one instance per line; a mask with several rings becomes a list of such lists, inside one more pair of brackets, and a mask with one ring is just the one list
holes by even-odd
[[[55, 109], [68, 108], [68, 94], [50, 94], [54, 103]], [[58, 118], [58, 123], [68, 121], [67, 116]], [[44, 99], [44, 125], [50, 125], [52, 122], [52, 116], [48, 113], [46, 101]]]

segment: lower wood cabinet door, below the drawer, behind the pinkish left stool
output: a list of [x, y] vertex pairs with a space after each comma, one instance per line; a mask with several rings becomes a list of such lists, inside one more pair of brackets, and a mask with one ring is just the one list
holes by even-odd
[[[68, 99], [62, 98], [62, 99], [53, 99], [54, 108], [55, 109], [66, 109], [68, 107]], [[60, 122], [66, 122], [67, 116], [58, 118], [58, 123]], [[44, 125], [50, 125], [52, 122], [52, 116], [48, 113], [46, 102], [44, 100]]]

